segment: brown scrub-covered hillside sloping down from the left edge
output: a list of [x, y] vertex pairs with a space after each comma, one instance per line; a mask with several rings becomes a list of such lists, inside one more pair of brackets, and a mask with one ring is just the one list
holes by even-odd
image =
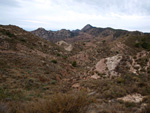
[[56, 44], [19, 27], [0, 26], [1, 99], [30, 99], [60, 91], [61, 87], [55, 88], [58, 81], [75, 76], [67, 55]]

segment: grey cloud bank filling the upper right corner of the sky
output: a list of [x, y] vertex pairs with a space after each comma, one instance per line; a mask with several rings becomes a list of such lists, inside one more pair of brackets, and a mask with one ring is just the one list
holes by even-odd
[[78, 3], [95, 6], [104, 13], [148, 14], [150, 15], [150, 0], [74, 0]]

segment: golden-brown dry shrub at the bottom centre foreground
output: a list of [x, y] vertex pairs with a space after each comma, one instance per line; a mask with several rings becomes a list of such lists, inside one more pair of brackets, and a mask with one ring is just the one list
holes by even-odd
[[77, 113], [89, 104], [87, 94], [57, 94], [45, 103], [46, 113]]

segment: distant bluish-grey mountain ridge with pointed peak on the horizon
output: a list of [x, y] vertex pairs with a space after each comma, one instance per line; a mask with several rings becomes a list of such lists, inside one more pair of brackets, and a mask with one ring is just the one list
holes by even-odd
[[[106, 37], [109, 35], [113, 35], [112, 38], [117, 38], [121, 35], [128, 34], [130, 32], [126, 30], [115, 30], [112, 28], [97, 28], [93, 27], [90, 24], [87, 24], [85, 27], [83, 27], [81, 30], [66, 30], [62, 29], [59, 31], [51, 31], [51, 30], [45, 30], [44, 28], [38, 28], [31, 32], [32, 34], [39, 36], [41, 38], [57, 42], [61, 40], [78, 40], [79, 37], [81, 40], [81, 37], [83, 40], [88, 40], [89, 37], [96, 38], [96, 37]], [[87, 38], [86, 38], [87, 37]]]

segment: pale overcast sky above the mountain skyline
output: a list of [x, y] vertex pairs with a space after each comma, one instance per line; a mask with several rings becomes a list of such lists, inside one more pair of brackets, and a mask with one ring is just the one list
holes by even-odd
[[25, 30], [74, 30], [91, 24], [150, 32], [150, 0], [0, 0], [0, 15], [0, 24]]

